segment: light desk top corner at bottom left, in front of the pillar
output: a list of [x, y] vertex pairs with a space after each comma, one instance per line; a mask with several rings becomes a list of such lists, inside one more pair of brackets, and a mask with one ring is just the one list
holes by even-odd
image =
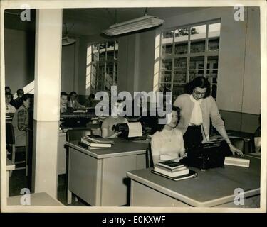
[[[60, 201], [53, 199], [50, 195], [48, 195], [46, 192], [40, 192], [40, 193], [33, 193], [31, 195], [31, 206], [64, 206], [61, 204]], [[21, 197], [20, 196], [11, 196], [7, 199], [7, 205], [8, 206], [19, 206], [21, 205]], [[23, 205], [21, 205], [23, 206]], [[26, 206], [26, 205], [25, 205]]]

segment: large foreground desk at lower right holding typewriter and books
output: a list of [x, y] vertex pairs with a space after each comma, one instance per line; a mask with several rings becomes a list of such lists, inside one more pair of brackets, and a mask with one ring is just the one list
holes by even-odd
[[[245, 156], [246, 157], [246, 156]], [[201, 172], [198, 177], [175, 182], [150, 169], [127, 172], [131, 179], [131, 206], [259, 207], [261, 160], [249, 168], [225, 165]], [[191, 168], [190, 168], [191, 169]], [[244, 206], [234, 204], [234, 190], [244, 189]]]

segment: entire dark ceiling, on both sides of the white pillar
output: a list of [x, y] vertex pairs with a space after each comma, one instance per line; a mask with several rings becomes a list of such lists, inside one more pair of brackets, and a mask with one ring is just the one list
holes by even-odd
[[[148, 8], [147, 14], [159, 18], [168, 18], [184, 13], [190, 13], [204, 9], [201, 7], [179, 7], [179, 8]], [[145, 8], [97, 8], [97, 9], [63, 9], [63, 35], [99, 35], [113, 23], [120, 23], [132, 18], [145, 15]], [[19, 9], [6, 10], [4, 25], [5, 28], [18, 29], [24, 31], [34, 31], [35, 20], [28, 22], [20, 20]], [[115, 16], [115, 14], [117, 16]], [[32, 10], [32, 17], [35, 18], [35, 10]], [[66, 24], [66, 26], [65, 26]]]

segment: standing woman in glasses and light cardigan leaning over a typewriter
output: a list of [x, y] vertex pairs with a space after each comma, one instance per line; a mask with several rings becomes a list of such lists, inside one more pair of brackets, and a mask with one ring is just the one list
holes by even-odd
[[189, 82], [188, 93], [181, 94], [174, 101], [174, 106], [181, 109], [181, 119], [177, 128], [184, 135], [184, 147], [196, 148], [202, 141], [209, 140], [209, 122], [224, 138], [233, 155], [243, 155], [242, 151], [231, 144], [221, 119], [216, 101], [211, 96], [211, 84], [205, 77], [196, 77]]

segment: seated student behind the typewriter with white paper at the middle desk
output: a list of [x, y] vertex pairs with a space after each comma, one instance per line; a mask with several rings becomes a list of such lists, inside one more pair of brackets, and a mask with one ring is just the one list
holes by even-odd
[[117, 123], [127, 123], [127, 119], [120, 116], [122, 112], [122, 101], [117, 100], [115, 108], [112, 108], [112, 114], [102, 123], [102, 137], [103, 138], [116, 138], [117, 135], [120, 135], [120, 132], [116, 132], [113, 126], [116, 126]]

